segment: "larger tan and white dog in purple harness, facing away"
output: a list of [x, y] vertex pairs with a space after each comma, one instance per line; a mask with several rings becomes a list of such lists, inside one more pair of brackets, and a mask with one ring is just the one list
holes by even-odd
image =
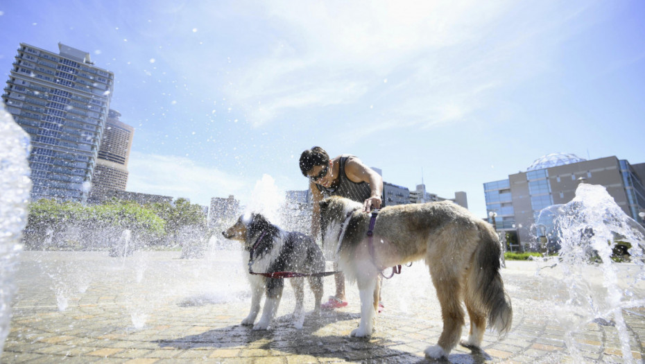
[[337, 196], [320, 202], [323, 246], [336, 253], [338, 266], [359, 287], [361, 322], [352, 336], [370, 336], [375, 327], [379, 272], [420, 259], [429, 267], [443, 318], [438, 344], [425, 350], [427, 356], [447, 357], [459, 342], [462, 301], [470, 315], [470, 335], [462, 345], [479, 347], [487, 321], [501, 334], [510, 330], [513, 309], [499, 275], [501, 245], [490, 224], [453, 202], [384, 207], [373, 229], [378, 243], [370, 247], [370, 214], [361, 209], [361, 203]]

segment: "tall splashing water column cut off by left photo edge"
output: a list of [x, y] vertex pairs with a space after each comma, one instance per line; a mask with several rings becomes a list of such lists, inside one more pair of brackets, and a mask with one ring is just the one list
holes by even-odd
[[27, 154], [29, 137], [0, 103], [0, 356], [9, 333], [13, 275], [22, 251], [19, 244], [27, 222], [31, 191]]

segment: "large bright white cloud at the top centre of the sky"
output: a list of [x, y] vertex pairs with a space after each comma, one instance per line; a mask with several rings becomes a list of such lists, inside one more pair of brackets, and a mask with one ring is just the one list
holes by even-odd
[[279, 38], [232, 73], [229, 90], [253, 125], [374, 96], [388, 118], [427, 127], [463, 121], [497, 89], [547, 70], [580, 5], [271, 1], [264, 12]]

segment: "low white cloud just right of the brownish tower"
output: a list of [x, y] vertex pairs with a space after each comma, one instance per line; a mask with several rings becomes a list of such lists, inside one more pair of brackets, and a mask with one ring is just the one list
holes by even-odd
[[236, 198], [248, 193], [250, 184], [217, 168], [203, 166], [187, 157], [133, 151], [128, 161], [128, 191], [190, 198], [209, 205], [212, 197]]

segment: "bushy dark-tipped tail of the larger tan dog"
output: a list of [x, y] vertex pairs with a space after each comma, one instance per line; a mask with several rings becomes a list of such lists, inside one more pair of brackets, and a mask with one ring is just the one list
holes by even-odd
[[501, 335], [508, 333], [513, 322], [513, 306], [504, 291], [504, 282], [499, 275], [501, 245], [492, 227], [479, 223], [481, 243], [474, 252], [473, 269], [476, 296], [481, 307], [488, 313], [488, 327]]

